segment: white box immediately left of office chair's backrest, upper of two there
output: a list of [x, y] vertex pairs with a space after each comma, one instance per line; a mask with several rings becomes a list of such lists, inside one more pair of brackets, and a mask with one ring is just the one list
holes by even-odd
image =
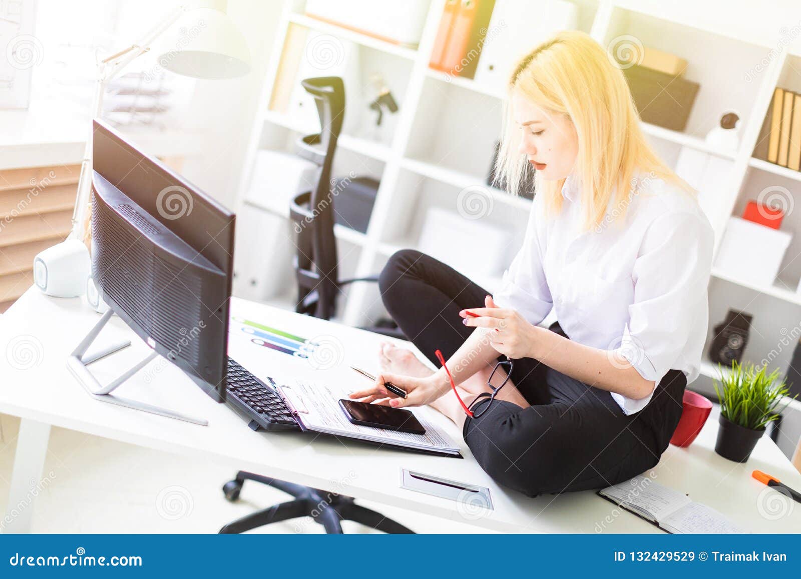
[[295, 195], [315, 187], [318, 171], [315, 163], [297, 155], [259, 151], [245, 199], [253, 205], [288, 215], [289, 203]]

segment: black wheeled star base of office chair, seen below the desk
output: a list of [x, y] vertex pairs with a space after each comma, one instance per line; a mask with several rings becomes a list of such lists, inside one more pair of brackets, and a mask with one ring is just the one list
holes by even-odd
[[267, 476], [260, 476], [252, 472], [239, 471], [234, 480], [223, 485], [223, 493], [228, 501], [239, 500], [239, 493], [245, 480], [256, 480], [264, 485], [279, 489], [295, 497], [293, 501], [286, 501], [280, 505], [273, 505], [242, 517], [219, 529], [222, 534], [244, 533], [262, 525], [269, 525], [278, 521], [288, 521], [297, 517], [312, 517], [323, 525], [326, 533], [341, 534], [342, 521], [356, 521], [372, 529], [394, 534], [414, 534], [414, 531], [396, 521], [384, 517], [371, 509], [356, 505], [352, 497], [330, 493], [320, 489], [312, 489], [303, 485], [276, 480]]

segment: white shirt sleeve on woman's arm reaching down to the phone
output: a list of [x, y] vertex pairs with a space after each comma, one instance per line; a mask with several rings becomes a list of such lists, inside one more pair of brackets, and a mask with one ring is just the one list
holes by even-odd
[[525, 320], [535, 325], [545, 319], [553, 306], [542, 268], [545, 247], [542, 247], [543, 231], [538, 231], [542, 224], [538, 219], [541, 207], [537, 197], [532, 203], [523, 245], [517, 251], [509, 269], [504, 271], [501, 285], [493, 295], [497, 306], [517, 310]]

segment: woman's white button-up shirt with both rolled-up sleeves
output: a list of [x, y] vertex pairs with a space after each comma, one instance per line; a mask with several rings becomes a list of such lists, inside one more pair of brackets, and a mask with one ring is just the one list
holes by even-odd
[[[685, 191], [649, 173], [636, 179], [629, 200], [621, 207], [610, 201], [590, 231], [574, 175], [562, 187], [558, 215], [546, 216], [535, 195], [523, 247], [493, 300], [531, 324], [553, 308], [570, 340], [613, 351], [610, 360], [627, 360], [656, 384], [670, 369], [682, 370], [689, 384], [706, 340], [714, 233]], [[633, 414], [653, 391], [642, 400], [611, 394]]]

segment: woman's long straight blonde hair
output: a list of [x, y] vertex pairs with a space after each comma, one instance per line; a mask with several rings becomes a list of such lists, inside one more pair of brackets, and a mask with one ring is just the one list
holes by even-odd
[[[616, 206], [623, 209], [618, 215], [625, 213], [635, 171], [645, 171], [694, 194], [694, 189], [667, 167], [646, 141], [621, 67], [610, 61], [589, 34], [566, 30], [522, 57], [509, 77], [495, 174], [496, 183], [505, 182], [513, 195], [519, 192], [528, 163], [517, 151], [520, 132], [514, 126], [510, 106], [515, 89], [537, 107], [566, 114], [573, 122], [578, 134], [574, 171], [582, 182], [586, 228], [601, 223], [613, 194]], [[564, 182], [545, 180], [539, 172], [535, 175], [537, 195], [545, 195], [545, 207], [551, 215], [562, 208]]]

